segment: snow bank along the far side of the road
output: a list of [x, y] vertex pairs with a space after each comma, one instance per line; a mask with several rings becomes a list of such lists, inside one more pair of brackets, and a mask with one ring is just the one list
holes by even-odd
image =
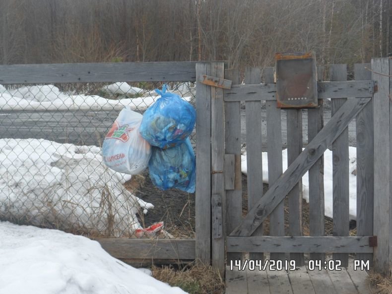
[[[180, 87], [180, 89], [178, 88]], [[176, 86], [175, 92], [186, 92], [189, 86]], [[54, 85], [26, 86], [7, 90], [0, 85], [0, 110], [122, 110], [124, 106], [131, 106], [132, 110], [143, 111], [153, 104], [160, 96], [151, 91], [152, 96], [144, 96], [145, 90], [131, 87], [128, 83], [117, 82], [104, 86], [102, 91], [109, 94], [119, 94], [117, 100], [106, 99], [97, 95], [72, 95], [61, 92]], [[143, 97], [122, 98], [125, 95], [142, 94]], [[180, 94], [181, 93], [177, 93]], [[189, 94], [189, 93], [188, 93]], [[183, 97], [191, 101], [192, 95]]]

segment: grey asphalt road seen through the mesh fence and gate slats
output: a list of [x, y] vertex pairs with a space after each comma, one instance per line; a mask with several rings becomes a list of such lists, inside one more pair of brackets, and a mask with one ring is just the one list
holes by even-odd
[[[101, 146], [117, 118], [118, 111], [29, 111], [1, 112], [0, 138], [42, 138], [58, 143]], [[262, 149], [266, 150], [266, 111], [261, 109]], [[281, 112], [282, 143], [287, 143], [286, 112]], [[330, 109], [324, 111], [324, 123], [330, 119]], [[307, 112], [303, 111], [303, 143], [307, 144]], [[246, 142], [245, 109], [241, 110], [241, 143]], [[349, 124], [349, 144], [356, 146], [355, 121]]]

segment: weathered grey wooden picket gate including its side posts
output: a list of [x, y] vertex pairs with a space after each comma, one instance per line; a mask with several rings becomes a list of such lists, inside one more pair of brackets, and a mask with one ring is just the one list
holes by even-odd
[[[386, 72], [383, 62], [387, 61], [372, 61], [374, 72]], [[379, 118], [380, 112], [390, 116], [388, 95], [385, 95], [389, 93], [389, 86], [375, 94], [382, 76], [373, 74], [372, 77], [370, 68], [371, 64], [355, 64], [355, 80], [347, 81], [345, 64], [329, 66], [329, 81], [318, 81], [319, 102], [331, 100], [331, 118], [324, 124], [323, 106], [308, 110], [276, 107], [273, 68], [264, 68], [263, 83], [260, 68], [247, 68], [246, 84], [240, 84], [238, 71], [224, 71], [221, 62], [196, 65], [199, 81], [196, 90], [196, 216], [204, 216], [196, 220], [196, 258], [204, 261], [211, 258], [222, 274], [225, 265], [240, 260], [243, 252], [250, 252], [250, 260], [255, 261], [264, 260], [265, 252], [270, 253], [270, 259], [282, 261], [288, 259], [286, 253], [290, 253], [289, 259], [295, 260], [297, 266], [304, 263], [304, 253], [310, 253], [310, 259], [314, 260], [324, 260], [325, 253], [333, 253], [333, 259], [341, 261], [341, 266], [347, 266], [348, 253], [357, 253], [357, 259], [373, 260], [380, 271], [388, 269], [389, 259], [382, 257], [381, 250], [388, 251], [389, 237], [380, 232], [389, 232], [389, 227], [374, 211], [376, 207], [382, 209], [380, 204], [387, 203], [382, 199], [389, 195], [389, 141], [384, 148], [388, 149], [384, 165], [388, 166], [388, 173], [382, 175], [377, 171], [380, 167], [374, 168], [374, 162], [379, 160], [376, 149], [382, 149], [378, 145], [386, 140], [382, 132], [388, 140], [390, 138], [389, 120]], [[264, 103], [266, 120], [262, 121]], [[248, 209], [243, 217], [241, 107], [244, 104]], [[304, 112], [308, 119], [308, 144], [302, 149]], [[282, 113], [287, 120], [288, 169], [284, 173]], [[354, 236], [349, 235], [348, 124], [351, 120], [356, 123], [357, 147], [357, 235]], [[268, 157], [269, 188], [264, 194], [262, 147]], [[323, 154], [327, 148], [332, 150], [333, 157], [333, 235], [328, 236], [324, 224], [323, 176]], [[380, 152], [386, 156], [384, 150]], [[310, 232], [304, 236], [301, 181], [307, 172]], [[377, 180], [387, 187], [374, 186]], [[383, 191], [373, 197], [377, 189]], [[288, 228], [285, 234], [286, 195]], [[269, 235], [263, 235], [262, 224], [267, 217]], [[385, 217], [389, 218], [388, 212]]]

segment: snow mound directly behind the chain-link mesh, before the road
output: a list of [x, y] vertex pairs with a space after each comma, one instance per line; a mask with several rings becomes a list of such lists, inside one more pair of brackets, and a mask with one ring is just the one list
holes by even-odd
[[61, 230], [129, 236], [139, 209], [154, 206], [125, 189], [101, 148], [43, 139], [0, 139], [0, 217]]

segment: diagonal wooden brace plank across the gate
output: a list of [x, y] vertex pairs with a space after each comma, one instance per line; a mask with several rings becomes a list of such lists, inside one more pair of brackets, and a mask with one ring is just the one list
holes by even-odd
[[370, 98], [347, 100], [230, 235], [251, 235], [369, 101]]

